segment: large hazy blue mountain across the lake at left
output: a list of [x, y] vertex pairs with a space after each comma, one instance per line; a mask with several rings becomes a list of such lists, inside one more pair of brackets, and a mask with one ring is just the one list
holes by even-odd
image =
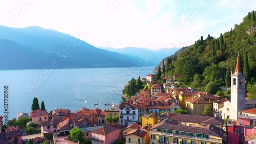
[[139, 58], [98, 49], [54, 30], [0, 26], [0, 32], [0, 69], [139, 66]]

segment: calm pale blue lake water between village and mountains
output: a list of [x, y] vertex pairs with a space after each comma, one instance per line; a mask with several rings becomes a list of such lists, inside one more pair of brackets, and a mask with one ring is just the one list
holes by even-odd
[[[82, 107], [105, 109], [105, 103], [119, 104], [127, 81], [145, 78], [155, 67], [0, 70], [0, 115], [4, 115], [4, 86], [8, 89], [9, 119], [31, 111], [33, 98], [47, 111], [56, 108], [75, 112]], [[85, 103], [84, 100], [88, 100]], [[98, 103], [97, 106], [94, 106]]]

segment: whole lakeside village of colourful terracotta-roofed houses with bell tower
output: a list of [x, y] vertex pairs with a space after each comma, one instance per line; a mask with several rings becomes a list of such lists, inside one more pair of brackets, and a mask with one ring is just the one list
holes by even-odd
[[[256, 101], [245, 100], [245, 75], [239, 57], [231, 74], [231, 98], [189, 87], [176, 87], [173, 79], [163, 78], [160, 84], [154, 74], [141, 78], [150, 87], [140, 89], [126, 102], [101, 110], [82, 107], [76, 112], [58, 108], [33, 110], [17, 114], [17, 120], [30, 117], [37, 124], [33, 143], [253, 143], [256, 142]], [[0, 117], [3, 124], [3, 116]], [[2, 127], [2, 125], [1, 125]], [[83, 133], [82, 139], [72, 139], [74, 128]], [[2, 129], [2, 128], [1, 128]], [[0, 143], [31, 141], [19, 126], [7, 127], [0, 133]], [[29, 135], [27, 135], [28, 137]], [[59, 138], [62, 138], [61, 140]], [[16, 140], [15, 140], [16, 141]]]

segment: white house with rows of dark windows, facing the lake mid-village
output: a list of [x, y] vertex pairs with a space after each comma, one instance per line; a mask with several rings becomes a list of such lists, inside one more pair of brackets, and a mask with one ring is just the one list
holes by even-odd
[[139, 107], [131, 102], [121, 103], [119, 107], [119, 124], [129, 126], [139, 122]]

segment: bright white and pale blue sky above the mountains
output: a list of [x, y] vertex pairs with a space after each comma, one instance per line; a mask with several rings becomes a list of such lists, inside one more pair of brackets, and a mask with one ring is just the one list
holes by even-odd
[[255, 8], [254, 0], [1, 0], [0, 25], [53, 29], [94, 46], [159, 50], [219, 37]]

